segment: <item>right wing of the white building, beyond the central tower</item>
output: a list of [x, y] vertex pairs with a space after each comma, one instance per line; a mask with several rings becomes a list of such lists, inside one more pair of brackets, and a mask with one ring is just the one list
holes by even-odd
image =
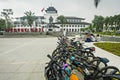
[[[63, 28], [67, 32], [80, 32], [81, 28], [86, 28], [90, 23], [83, 22], [84, 18], [78, 18], [73, 16], [65, 16], [67, 23], [63, 25]], [[61, 24], [59, 24], [61, 26]]]

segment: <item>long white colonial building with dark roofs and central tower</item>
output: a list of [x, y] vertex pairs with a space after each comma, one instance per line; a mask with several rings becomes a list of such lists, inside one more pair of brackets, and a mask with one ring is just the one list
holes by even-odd
[[[50, 6], [45, 10], [44, 16], [36, 16], [32, 27], [28, 25], [27, 19], [24, 17], [16, 17], [14, 19], [14, 28], [8, 29], [8, 32], [43, 32], [43, 31], [60, 31], [64, 28], [67, 32], [80, 32], [80, 28], [85, 28], [90, 23], [84, 22], [84, 18], [74, 16], [64, 16], [67, 23], [61, 26], [57, 20], [58, 11]], [[50, 22], [51, 21], [51, 22]]]

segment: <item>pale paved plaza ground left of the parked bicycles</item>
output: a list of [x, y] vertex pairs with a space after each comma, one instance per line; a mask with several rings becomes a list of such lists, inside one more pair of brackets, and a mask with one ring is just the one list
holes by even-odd
[[43, 80], [57, 38], [0, 38], [0, 80]]

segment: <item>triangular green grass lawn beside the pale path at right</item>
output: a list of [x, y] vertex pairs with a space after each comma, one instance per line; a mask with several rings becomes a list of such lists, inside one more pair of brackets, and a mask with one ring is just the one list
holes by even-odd
[[120, 56], [120, 43], [103, 42], [103, 43], [94, 43], [94, 45], [108, 52], [111, 52], [117, 56]]

